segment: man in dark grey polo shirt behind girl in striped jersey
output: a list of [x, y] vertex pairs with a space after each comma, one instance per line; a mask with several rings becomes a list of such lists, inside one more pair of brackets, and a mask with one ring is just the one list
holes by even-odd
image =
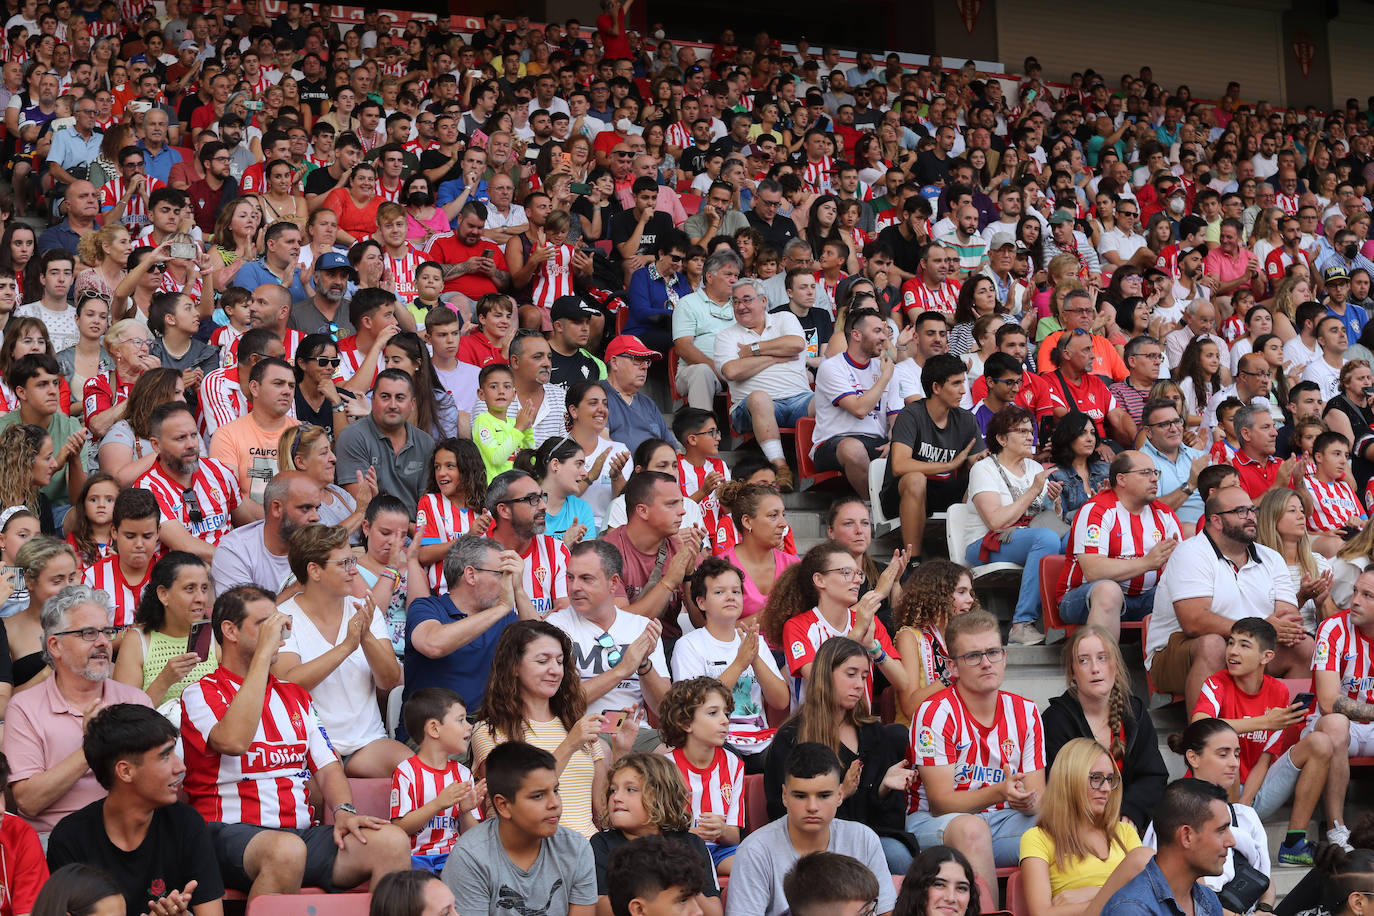
[[[415, 401], [415, 382], [401, 369], [382, 369], [372, 385], [372, 412], [339, 433], [337, 481], [357, 499], [360, 474], [376, 471], [379, 493], [396, 496], [411, 518], [429, 475], [434, 437], [405, 420]], [[536, 488], [537, 489], [537, 488]], [[493, 514], [495, 515], [495, 514]]]

